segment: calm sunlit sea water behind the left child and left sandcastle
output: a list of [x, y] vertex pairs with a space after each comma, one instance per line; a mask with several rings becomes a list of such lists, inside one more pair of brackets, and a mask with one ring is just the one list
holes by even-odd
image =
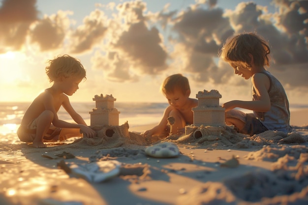
[[[30, 104], [31, 102], [0, 102], [0, 135], [16, 133]], [[95, 103], [71, 102], [71, 104], [90, 125], [89, 112], [95, 108]], [[158, 124], [167, 106], [167, 103], [114, 103], [114, 107], [120, 112], [119, 125], [127, 121], [129, 127]], [[62, 107], [58, 112], [58, 117], [67, 122], [74, 122]]]

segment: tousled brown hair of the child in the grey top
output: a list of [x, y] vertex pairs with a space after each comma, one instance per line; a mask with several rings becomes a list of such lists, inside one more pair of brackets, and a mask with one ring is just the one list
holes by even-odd
[[227, 62], [238, 62], [244, 68], [251, 68], [250, 56], [256, 66], [270, 65], [271, 50], [268, 43], [255, 33], [242, 33], [228, 39], [221, 49], [220, 58]]

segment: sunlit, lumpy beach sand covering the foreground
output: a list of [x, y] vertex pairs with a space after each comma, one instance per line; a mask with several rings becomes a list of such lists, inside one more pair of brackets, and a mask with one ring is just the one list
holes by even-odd
[[[123, 125], [106, 139], [73, 138], [41, 149], [6, 135], [0, 205], [306, 205], [307, 116], [308, 110], [291, 111], [289, 135], [249, 137], [225, 127], [221, 136], [171, 136], [160, 143], [178, 146], [172, 158], [145, 153], [153, 144], [138, 136], [153, 125]], [[86, 178], [71, 165], [99, 170], [92, 166]], [[99, 181], [111, 165], [118, 172]]]

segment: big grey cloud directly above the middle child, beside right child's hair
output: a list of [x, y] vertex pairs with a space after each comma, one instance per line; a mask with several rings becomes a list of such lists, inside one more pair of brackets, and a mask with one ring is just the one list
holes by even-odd
[[188, 8], [172, 20], [176, 32], [172, 38], [175, 49], [171, 54], [176, 63], [172, 66], [181, 66], [197, 82], [222, 83], [224, 69], [219, 69], [215, 60], [233, 29], [223, 17], [222, 9], [201, 5]]

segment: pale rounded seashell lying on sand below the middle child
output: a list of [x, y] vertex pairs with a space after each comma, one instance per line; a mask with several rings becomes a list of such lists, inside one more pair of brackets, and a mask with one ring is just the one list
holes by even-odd
[[156, 158], [177, 157], [180, 154], [178, 146], [169, 142], [149, 146], [145, 149], [145, 152], [149, 156]]

